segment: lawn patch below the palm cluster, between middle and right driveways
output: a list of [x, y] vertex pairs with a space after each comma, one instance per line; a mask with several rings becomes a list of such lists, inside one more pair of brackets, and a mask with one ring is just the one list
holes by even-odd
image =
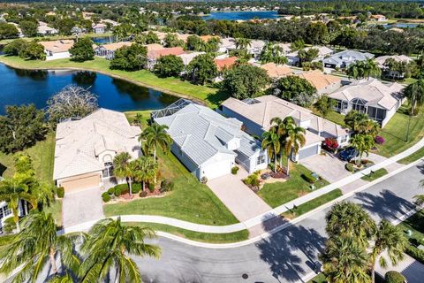
[[[258, 195], [273, 208], [283, 203], [290, 202], [299, 196], [307, 195], [311, 192], [311, 185], [302, 178], [302, 175], [309, 172], [310, 171], [301, 164], [292, 164], [289, 180], [265, 184]], [[319, 180], [314, 184], [316, 187], [315, 189], [327, 185], [329, 185], [327, 180]]]

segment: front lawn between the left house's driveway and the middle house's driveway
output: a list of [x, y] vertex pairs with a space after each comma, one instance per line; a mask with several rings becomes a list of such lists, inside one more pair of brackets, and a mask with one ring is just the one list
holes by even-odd
[[163, 197], [129, 203], [106, 204], [106, 216], [124, 214], [161, 215], [194, 223], [225, 226], [239, 221], [206, 186], [202, 185], [171, 153], [158, 152], [161, 179], [175, 183]]

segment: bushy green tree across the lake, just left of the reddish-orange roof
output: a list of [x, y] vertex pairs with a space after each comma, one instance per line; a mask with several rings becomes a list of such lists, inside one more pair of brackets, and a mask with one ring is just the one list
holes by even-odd
[[123, 46], [115, 51], [115, 57], [110, 60], [110, 69], [136, 71], [145, 67], [147, 62], [147, 48], [134, 43], [131, 46]]

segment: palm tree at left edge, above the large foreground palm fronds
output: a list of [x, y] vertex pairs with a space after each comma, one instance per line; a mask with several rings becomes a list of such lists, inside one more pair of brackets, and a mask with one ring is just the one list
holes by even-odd
[[16, 230], [19, 232], [19, 202], [25, 200], [31, 203], [34, 208], [37, 207], [35, 197], [29, 194], [29, 187], [26, 182], [20, 178], [13, 177], [0, 182], [0, 201], [7, 203], [13, 213], [13, 220], [16, 224]]

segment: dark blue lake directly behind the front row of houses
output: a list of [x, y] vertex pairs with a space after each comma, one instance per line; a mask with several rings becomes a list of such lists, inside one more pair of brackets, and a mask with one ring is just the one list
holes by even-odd
[[6, 105], [34, 103], [44, 108], [50, 96], [64, 86], [76, 84], [98, 96], [100, 107], [116, 111], [156, 110], [178, 100], [125, 80], [93, 72], [29, 71], [0, 64], [0, 114]]

